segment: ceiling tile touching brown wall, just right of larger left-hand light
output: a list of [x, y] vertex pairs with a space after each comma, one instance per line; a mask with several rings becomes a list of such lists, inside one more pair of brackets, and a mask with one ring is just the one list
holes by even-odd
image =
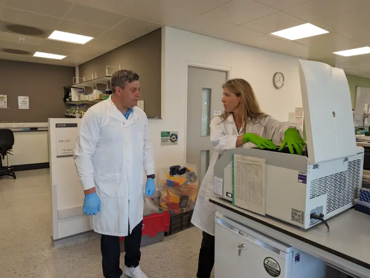
[[123, 44], [126, 44], [140, 35], [117, 31], [114, 29], [108, 30], [103, 35], [91, 40], [87, 43], [89, 46], [95, 46], [106, 50], [112, 50]]

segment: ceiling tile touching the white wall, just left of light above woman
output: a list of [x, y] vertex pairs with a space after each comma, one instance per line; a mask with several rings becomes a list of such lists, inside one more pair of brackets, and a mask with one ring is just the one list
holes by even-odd
[[248, 45], [251, 38], [263, 35], [264, 33], [257, 32], [255, 30], [247, 29], [241, 26], [235, 26], [227, 30], [219, 31], [217, 34], [212, 35], [212, 37]]

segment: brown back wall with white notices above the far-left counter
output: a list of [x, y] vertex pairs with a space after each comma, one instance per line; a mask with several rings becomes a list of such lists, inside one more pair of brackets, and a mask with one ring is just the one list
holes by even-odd
[[[0, 109], [0, 122], [47, 122], [64, 117], [63, 86], [73, 83], [75, 68], [0, 60], [0, 94], [8, 108]], [[18, 96], [29, 97], [29, 110], [18, 109]]]

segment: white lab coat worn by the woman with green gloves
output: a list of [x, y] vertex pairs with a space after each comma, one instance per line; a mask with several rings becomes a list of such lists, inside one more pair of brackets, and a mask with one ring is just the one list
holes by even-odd
[[[193, 216], [191, 222], [205, 231], [206, 233], [214, 236], [214, 215], [215, 205], [209, 199], [213, 197], [213, 167], [221, 155], [229, 150], [235, 149], [237, 137], [243, 133], [256, 133], [257, 135], [272, 139], [275, 143], [281, 143], [284, 139], [285, 131], [289, 127], [297, 127], [297, 125], [289, 122], [279, 122], [278, 120], [267, 116], [260, 120], [260, 122], [253, 123], [248, 121], [246, 131], [240, 129], [238, 133], [237, 126], [234, 123], [233, 114], [231, 114], [224, 122], [221, 117], [216, 116], [211, 120], [211, 142], [214, 148], [214, 153], [211, 158], [210, 166], [202, 181], [199, 189], [198, 197], [195, 203]], [[298, 128], [299, 132], [300, 129]], [[250, 148], [256, 147], [253, 143], [245, 143], [242, 147]]]

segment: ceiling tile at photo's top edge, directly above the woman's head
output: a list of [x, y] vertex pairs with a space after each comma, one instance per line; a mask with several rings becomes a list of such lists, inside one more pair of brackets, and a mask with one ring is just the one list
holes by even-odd
[[255, 0], [233, 0], [205, 13], [205, 15], [240, 25], [274, 12], [277, 10]]

